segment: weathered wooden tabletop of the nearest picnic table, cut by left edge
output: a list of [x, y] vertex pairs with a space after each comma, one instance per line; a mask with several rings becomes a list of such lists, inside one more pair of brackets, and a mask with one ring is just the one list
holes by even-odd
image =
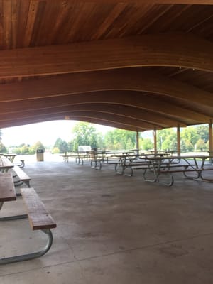
[[0, 175], [0, 202], [16, 200], [16, 190], [11, 173]]

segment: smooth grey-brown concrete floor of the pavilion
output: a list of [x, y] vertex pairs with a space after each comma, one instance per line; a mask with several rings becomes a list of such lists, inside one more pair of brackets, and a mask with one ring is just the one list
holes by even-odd
[[[0, 266], [1, 284], [213, 283], [213, 184], [175, 175], [173, 187], [75, 162], [24, 168], [58, 227], [32, 261]], [[21, 197], [1, 216], [23, 213]], [[45, 234], [27, 219], [1, 222], [0, 255], [37, 250]]]

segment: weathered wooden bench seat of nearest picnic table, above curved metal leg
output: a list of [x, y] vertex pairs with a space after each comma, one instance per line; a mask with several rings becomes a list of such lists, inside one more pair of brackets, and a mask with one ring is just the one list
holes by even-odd
[[56, 227], [53, 217], [45, 209], [45, 205], [32, 187], [21, 188], [21, 195], [26, 204], [29, 222], [33, 230], [52, 229]]

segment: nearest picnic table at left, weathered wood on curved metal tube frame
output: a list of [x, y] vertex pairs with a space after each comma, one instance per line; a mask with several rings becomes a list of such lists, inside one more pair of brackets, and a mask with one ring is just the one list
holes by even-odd
[[[41, 230], [48, 236], [46, 246], [40, 251], [21, 254], [18, 256], [9, 256], [0, 258], [0, 264], [14, 263], [18, 261], [27, 261], [33, 258], [43, 256], [50, 250], [53, 244], [53, 234], [50, 229], [56, 227], [53, 217], [49, 214], [45, 205], [40, 200], [40, 197], [33, 188], [22, 188], [21, 195], [26, 205], [27, 214], [1, 217], [0, 221], [8, 221], [14, 219], [21, 219], [28, 217], [31, 228], [33, 230]], [[4, 173], [0, 175], [0, 210], [4, 202], [15, 201], [16, 191], [13, 185], [13, 177], [11, 173]]]

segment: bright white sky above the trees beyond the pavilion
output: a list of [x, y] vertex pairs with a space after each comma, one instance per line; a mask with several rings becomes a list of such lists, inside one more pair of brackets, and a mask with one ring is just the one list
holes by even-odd
[[[31, 146], [37, 141], [44, 146], [53, 146], [57, 138], [62, 138], [69, 142], [72, 139], [72, 128], [78, 121], [62, 120], [47, 121], [39, 124], [28, 124], [25, 126], [15, 126], [1, 129], [1, 142], [9, 147], [18, 146], [21, 143], [30, 144]], [[97, 131], [106, 133], [113, 128], [108, 126], [96, 125]]]

